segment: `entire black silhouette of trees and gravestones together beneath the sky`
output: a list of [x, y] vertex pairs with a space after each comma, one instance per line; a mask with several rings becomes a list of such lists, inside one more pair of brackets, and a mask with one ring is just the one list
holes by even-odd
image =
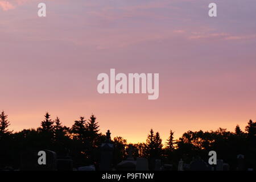
[[[38, 129], [14, 133], [4, 111], [0, 114], [0, 170], [255, 170], [256, 122], [242, 131], [187, 131], [163, 144], [151, 129], [145, 143], [128, 144], [122, 137], [100, 133], [96, 117], [80, 117], [72, 127], [63, 126], [49, 113]], [[40, 165], [38, 154], [47, 155]], [[209, 151], [216, 151], [217, 165], [210, 165]]]

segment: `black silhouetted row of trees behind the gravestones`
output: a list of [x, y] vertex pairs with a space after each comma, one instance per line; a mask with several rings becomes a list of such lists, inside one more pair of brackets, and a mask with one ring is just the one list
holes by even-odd
[[[105, 141], [105, 134], [100, 133], [100, 126], [92, 114], [88, 120], [80, 117], [72, 127], [64, 126], [60, 118], [51, 119], [47, 112], [37, 129], [23, 129], [19, 132], [9, 130], [10, 121], [4, 111], [0, 114], [0, 169], [7, 166], [18, 169], [20, 154], [28, 150], [55, 151], [58, 158], [71, 158], [75, 167], [100, 163], [100, 147]], [[256, 169], [256, 122], [250, 120], [245, 130], [236, 126], [234, 131], [219, 128], [216, 131], [187, 131], [179, 139], [174, 139], [174, 131], [163, 143], [158, 132], [150, 130], [146, 142], [127, 143], [122, 137], [114, 137], [113, 165], [116, 166], [127, 158], [128, 146], [133, 146], [134, 158], [147, 158], [150, 169], [154, 169], [155, 159], [162, 164], [172, 164], [174, 169], [180, 159], [190, 163], [200, 157], [208, 161], [208, 152], [216, 151], [217, 158], [236, 170], [237, 155], [245, 155], [247, 168]]]

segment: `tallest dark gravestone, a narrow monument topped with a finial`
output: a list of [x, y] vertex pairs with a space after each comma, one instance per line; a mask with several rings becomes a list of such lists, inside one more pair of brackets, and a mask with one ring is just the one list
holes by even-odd
[[106, 140], [101, 144], [100, 171], [112, 170], [114, 144], [111, 142], [110, 131], [106, 133]]

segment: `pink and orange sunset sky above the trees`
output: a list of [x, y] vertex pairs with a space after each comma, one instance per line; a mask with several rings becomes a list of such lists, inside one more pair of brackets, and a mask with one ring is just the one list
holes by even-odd
[[[170, 129], [244, 129], [256, 117], [255, 12], [255, 0], [0, 0], [0, 109], [14, 131], [46, 111], [69, 127], [93, 113], [128, 142], [151, 128], [163, 142]], [[111, 68], [159, 73], [159, 98], [99, 94]]]

